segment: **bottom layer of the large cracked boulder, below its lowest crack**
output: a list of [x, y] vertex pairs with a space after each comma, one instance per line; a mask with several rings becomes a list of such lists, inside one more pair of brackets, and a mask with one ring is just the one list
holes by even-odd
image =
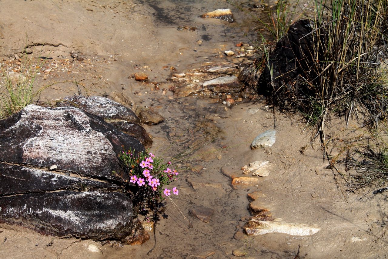
[[132, 202], [117, 192], [60, 191], [1, 197], [0, 222], [23, 224], [46, 235], [93, 240], [122, 240], [134, 230]]

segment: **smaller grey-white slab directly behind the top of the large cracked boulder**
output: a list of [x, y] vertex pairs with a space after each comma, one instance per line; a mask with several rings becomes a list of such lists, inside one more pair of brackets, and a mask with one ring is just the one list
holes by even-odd
[[57, 107], [72, 106], [106, 119], [119, 119], [140, 123], [135, 113], [120, 103], [101, 96], [67, 96], [57, 102]]

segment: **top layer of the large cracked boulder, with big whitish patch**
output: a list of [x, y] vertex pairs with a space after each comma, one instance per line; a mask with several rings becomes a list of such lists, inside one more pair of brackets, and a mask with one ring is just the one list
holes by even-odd
[[113, 171], [124, 174], [117, 159], [121, 145], [144, 149], [134, 137], [73, 107], [29, 105], [0, 121], [0, 160], [5, 162], [56, 165], [82, 176], [113, 180]]

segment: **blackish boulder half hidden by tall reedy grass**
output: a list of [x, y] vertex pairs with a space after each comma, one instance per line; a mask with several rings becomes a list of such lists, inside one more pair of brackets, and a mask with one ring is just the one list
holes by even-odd
[[[274, 50], [270, 50], [268, 59], [263, 54], [262, 58], [256, 59], [240, 72], [239, 79], [255, 88], [259, 94], [270, 94], [273, 87], [277, 92], [279, 88], [284, 92], [290, 91], [288, 87], [293, 85], [299, 76], [302, 82], [314, 62], [312, 53], [317, 51], [314, 50], [314, 37], [317, 35], [312, 33], [313, 27], [314, 22], [308, 19], [293, 23], [286, 36], [277, 42]], [[272, 76], [270, 68], [273, 70]], [[305, 88], [300, 89], [300, 92], [308, 90]]]

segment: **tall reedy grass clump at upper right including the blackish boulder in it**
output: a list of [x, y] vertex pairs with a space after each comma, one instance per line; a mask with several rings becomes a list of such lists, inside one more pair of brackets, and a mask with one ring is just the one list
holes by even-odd
[[[284, 21], [289, 19], [284, 16], [293, 12], [273, 12], [279, 20], [273, 23], [277, 30], [270, 31], [285, 35]], [[314, 14], [298, 21], [275, 49], [261, 36], [264, 54], [248, 77], [280, 108], [299, 110], [308, 125], [317, 125], [315, 136], [325, 144], [331, 114], [348, 119], [362, 113], [369, 123], [385, 118], [388, 85], [382, 80], [381, 59], [387, 50], [387, 23], [387, 0], [317, 0]], [[282, 56], [271, 55], [279, 49]]]

